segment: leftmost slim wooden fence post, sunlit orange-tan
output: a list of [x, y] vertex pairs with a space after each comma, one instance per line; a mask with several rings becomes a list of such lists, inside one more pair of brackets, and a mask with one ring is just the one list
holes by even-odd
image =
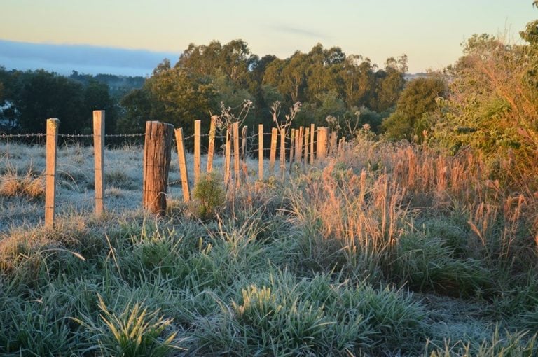
[[47, 119], [46, 172], [45, 172], [45, 227], [54, 228], [56, 199], [56, 152], [60, 120]]

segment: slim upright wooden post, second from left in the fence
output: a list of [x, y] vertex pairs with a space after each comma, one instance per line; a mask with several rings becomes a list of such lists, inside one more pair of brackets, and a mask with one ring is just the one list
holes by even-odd
[[104, 111], [93, 111], [93, 151], [95, 171], [95, 216], [104, 211]]

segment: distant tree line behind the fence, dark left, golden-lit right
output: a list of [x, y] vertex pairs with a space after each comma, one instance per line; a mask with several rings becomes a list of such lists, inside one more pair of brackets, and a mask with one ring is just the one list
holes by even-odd
[[62, 118], [62, 131], [90, 130], [90, 111], [107, 111], [107, 132], [139, 132], [146, 120], [191, 130], [195, 119], [240, 108], [251, 101], [246, 124], [270, 124], [270, 107], [301, 102], [296, 123], [326, 125], [352, 118], [377, 129], [403, 90], [407, 57], [390, 57], [382, 68], [341, 48], [315, 45], [289, 58], [258, 57], [242, 40], [191, 44], [179, 60], [165, 59], [149, 78], [91, 76], [73, 71], [6, 71], [0, 67], [0, 130], [34, 132], [43, 118]]

